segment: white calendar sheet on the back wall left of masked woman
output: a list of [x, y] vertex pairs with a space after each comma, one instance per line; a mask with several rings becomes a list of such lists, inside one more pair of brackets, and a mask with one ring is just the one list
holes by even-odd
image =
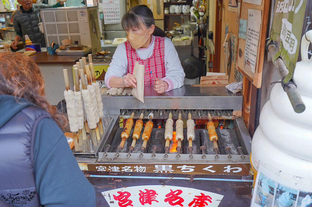
[[119, 0], [103, 0], [104, 24], [119, 24], [121, 22]]

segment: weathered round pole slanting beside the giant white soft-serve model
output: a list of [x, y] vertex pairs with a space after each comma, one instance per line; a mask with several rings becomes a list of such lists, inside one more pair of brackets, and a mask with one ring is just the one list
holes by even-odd
[[[272, 58], [278, 52], [276, 46], [273, 44], [268, 46], [268, 50]], [[277, 69], [277, 72], [280, 74], [281, 80], [283, 80], [285, 76], [288, 74], [288, 70], [286, 68], [285, 63], [280, 57], [278, 57], [274, 61], [274, 66]], [[305, 111], [305, 104], [303, 103], [295, 84], [284, 84], [284, 85], [282, 84], [282, 87], [284, 88], [284, 91], [287, 93], [287, 96], [291, 102], [292, 107], [294, 108], [294, 111], [296, 113], [302, 113], [303, 111]]]

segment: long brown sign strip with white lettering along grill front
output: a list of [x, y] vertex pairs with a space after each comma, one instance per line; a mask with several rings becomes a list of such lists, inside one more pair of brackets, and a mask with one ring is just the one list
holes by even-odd
[[89, 171], [249, 175], [250, 163], [87, 163]]

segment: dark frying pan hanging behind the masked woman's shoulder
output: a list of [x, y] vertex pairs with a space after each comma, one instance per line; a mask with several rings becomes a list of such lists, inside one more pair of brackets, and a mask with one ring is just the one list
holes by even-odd
[[182, 67], [185, 73], [185, 78], [188, 78], [188, 79], [194, 79], [194, 78], [200, 77], [203, 74], [203, 70], [204, 70], [203, 62], [200, 59], [194, 57], [193, 55], [193, 45], [194, 45], [194, 42], [191, 47], [191, 56], [185, 59], [182, 63]]

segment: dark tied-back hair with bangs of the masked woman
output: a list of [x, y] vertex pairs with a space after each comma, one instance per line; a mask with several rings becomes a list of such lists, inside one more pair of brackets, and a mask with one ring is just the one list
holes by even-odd
[[[146, 28], [155, 25], [153, 12], [146, 5], [137, 5], [129, 9], [129, 11], [122, 17], [121, 26], [124, 30], [134, 27], [140, 28], [141, 22], [146, 26]], [[159, 27], [155, 26], [152, 35], [164, 37], [165, 33]]]

